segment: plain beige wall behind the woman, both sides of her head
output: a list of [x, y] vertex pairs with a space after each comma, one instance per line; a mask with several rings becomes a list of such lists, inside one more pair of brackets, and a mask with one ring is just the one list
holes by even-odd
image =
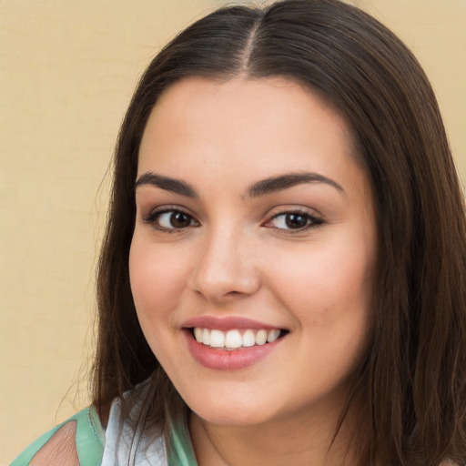
[[[412, 48], [466, 179], [466, 1], [360, 0]], [[214, 0], [0, 0], [0, 465], [86, 405], [106, 168], [137, 77]]]

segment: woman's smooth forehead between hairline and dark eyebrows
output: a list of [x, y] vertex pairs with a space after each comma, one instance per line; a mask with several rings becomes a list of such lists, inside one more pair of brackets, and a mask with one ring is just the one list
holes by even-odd
[[354, 147], [339, 112], [289, 79], [190, 77], [168, 87], [152, 110], [138, 173], [204, 166], [245, 181], [304, 169], [327, 176], [354, 165]]

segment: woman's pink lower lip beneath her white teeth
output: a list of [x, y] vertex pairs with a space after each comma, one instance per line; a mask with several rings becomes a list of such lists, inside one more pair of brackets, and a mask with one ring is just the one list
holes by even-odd
[[218, 349], [202, 343], [198, 343], [190, 331], [185, 332], [187, 347], [195, 360], [208, 369], [214, 370], [238, 370], [245, 369], [263, 360], [270, 352], [277, 349], [282, 339], [276, 339], [271, 343], [256, 345], [248, 348]]

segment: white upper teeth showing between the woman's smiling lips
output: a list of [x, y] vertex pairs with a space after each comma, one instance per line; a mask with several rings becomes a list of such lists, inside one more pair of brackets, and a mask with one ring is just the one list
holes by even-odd
[[191, 334], [198, 343], [215, 349], [240, 349], [263, 346], [284, 337], [288, 330], [283, 329], [205, 329], [193, 327]]

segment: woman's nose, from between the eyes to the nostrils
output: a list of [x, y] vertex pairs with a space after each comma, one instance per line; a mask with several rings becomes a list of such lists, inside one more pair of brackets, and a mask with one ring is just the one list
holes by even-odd
[[215, 305], [253, 295], [260, 277], [252, 241], [247, 235], [221, 228], [202, 239], [191, 287]]

